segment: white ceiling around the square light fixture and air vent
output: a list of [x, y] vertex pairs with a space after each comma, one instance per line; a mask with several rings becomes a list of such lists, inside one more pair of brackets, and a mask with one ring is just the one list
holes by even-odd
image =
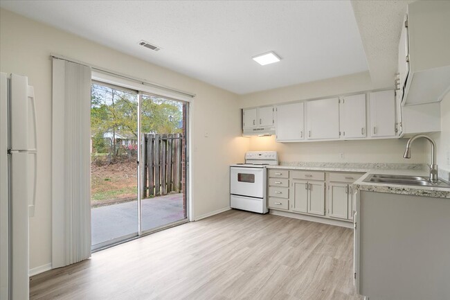
[[[355, 13], [371, 17], [362, 2], [353, 3]], [[7, 10], [237, 94], [368, 70], [359, 30], [366, 26], [370, 31], [370, 23], [357, 16], [358, 28], [350, 1], [0, 3]], [[406, 9], [406, 3], [403, 6]], [[161, 51], [139, 46], [141, 39]], [[372, 45], [367, 45], [366, 41], [370, 51]], [[260, 66], [251, 60], [267, 51], [275, 51], [282, 61]], [[376, 60], [370, 58], [372, 67]]]

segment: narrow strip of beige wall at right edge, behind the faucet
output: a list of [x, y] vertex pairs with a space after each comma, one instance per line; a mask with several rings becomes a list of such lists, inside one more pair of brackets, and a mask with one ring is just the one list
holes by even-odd
[[[440, 127], [441, 132], [432, 135], [437, 145], [437, 163], [441, 170], [450, 172], [450, 92], [442, 99], [440, 103]], [[431, 148], [428, 146], [428, 154], [431, 156]], [[444, 178], [450, 180], [450, 177]]]

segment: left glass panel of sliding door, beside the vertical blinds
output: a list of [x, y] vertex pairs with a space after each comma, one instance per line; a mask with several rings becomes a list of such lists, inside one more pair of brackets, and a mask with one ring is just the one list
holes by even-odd
[[138, 235], [138, 95], [91, 87], [92, 249]]

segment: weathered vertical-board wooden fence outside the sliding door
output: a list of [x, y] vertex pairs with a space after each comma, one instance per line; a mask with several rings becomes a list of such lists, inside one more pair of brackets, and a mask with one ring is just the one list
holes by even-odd
[[141, 197], [181, 193], [183, 134], [142, 134]]

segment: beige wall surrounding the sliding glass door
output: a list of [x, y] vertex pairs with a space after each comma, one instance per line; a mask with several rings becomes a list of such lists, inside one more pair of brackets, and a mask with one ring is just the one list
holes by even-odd
[[51, 262], [50, 53], [197, 94], [191, 116], [193, 215], [229, 207], [228, 166], [239, 161], [249, 147], [248, 139], [240, 137], [235, 94], [8, 10], [0, 10], [0, 22], [0, 71], [28, 76], [37, 98], [39, 161], [35, 218], [30, 219], [31, 268]]

